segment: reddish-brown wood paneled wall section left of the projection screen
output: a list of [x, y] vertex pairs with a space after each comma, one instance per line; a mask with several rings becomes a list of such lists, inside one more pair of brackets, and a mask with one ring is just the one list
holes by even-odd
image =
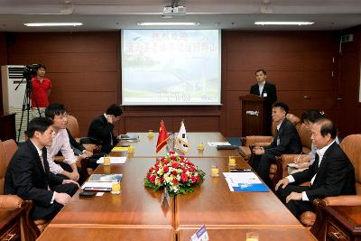
[[51, 79], [51, 102], [62, 103], [86, 135], [93, 117], [119, 103], [118, 32], [14, 33], [7, 64], [42, 63]]

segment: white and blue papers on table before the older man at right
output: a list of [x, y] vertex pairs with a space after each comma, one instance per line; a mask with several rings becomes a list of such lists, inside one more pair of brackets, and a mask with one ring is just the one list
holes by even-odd
[[254, 172], [223, 172], [231, 191], [270, 191]]

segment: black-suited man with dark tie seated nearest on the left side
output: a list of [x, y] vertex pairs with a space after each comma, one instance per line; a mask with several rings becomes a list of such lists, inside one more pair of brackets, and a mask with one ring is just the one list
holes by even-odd
[[5, 174], [5, 194], [32, 199], [32, 219], [51, 219], [79, 188], [72, 180], [63, 180], [49, 169], [45, 146], [54, 135], [51, 119], [36, 117], [29, 123], [29, 140], [20, 145]]

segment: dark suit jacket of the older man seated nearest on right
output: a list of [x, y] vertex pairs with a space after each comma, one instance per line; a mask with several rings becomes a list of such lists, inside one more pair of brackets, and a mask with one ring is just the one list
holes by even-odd
[[292, 174], [296, 183], [310, 181], [316, 175], [309, 191], [310, 201], [324, 199], [329, 196], [353, 195], [355, 189], [355, 169], [347, 155], [338, 144], [334, 143], [323, 155], [319, 165], [319, 155], [309, 169]]

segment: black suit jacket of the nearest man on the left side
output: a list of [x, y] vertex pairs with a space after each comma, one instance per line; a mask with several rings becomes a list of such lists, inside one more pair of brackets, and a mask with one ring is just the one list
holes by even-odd
[[32, 199], [35, 205], [51, 205], [52, 189], [63, 181], [49, 170], [46, 148], [42, 149], [44, 168], [39, 154], [29, 140], [20, 145], [7, 167], [5, 194], [15, 194], [22, 199]]

